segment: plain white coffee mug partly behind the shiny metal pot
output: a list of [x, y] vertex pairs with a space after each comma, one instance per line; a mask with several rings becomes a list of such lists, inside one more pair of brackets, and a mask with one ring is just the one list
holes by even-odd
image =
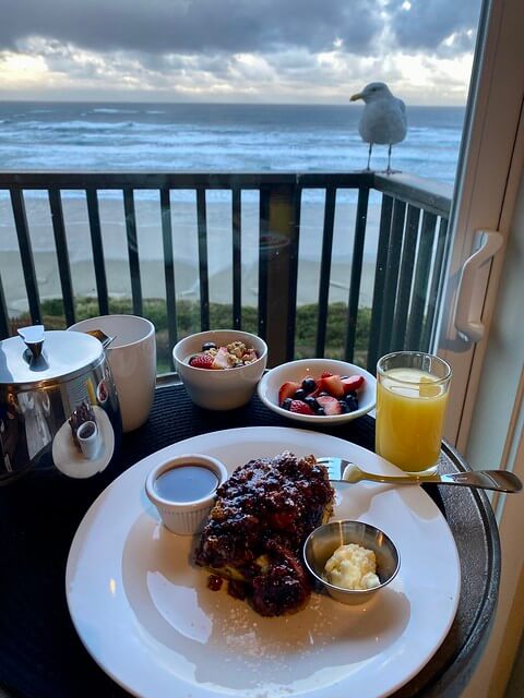
[[155, 326], [136, 315], [100, 315], [82, 320], [68, 329], [102, 329], [115, 337], [107, 358], [117, 386], [122, 428], [131, 432], [147, 420], [156, 385]]

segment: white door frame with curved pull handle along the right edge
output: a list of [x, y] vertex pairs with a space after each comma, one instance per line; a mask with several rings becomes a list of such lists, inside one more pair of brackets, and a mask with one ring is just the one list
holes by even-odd
[[[454, 232], [439, 354], [453, 368], [446, 437], [472, 467], [524, 478], [524, 10], [484, 8], [452, 215]], [[483, 244], [486, 248], [463, 267]], [[484, 257], [484, 258], [483, 258]], [[476, 261], [477, 260], [477, 261]], [[464, 296], [464, 293], [466, 296]], [[460, 330], [458, 330], [460, 328]], [[523, 628], [524, 502], [493, 501], [502, 581], [490, 645], [467, 696], [502, 696]], [[515, 610], [517, 610], [515, 612]]]

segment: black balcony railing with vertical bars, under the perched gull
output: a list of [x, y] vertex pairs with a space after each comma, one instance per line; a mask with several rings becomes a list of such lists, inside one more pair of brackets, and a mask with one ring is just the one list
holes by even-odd
[[[97, 311], [109, 313], [110, 278], [104, 254], [104, 227], [100, 222], [100, 191], [118, 191], [123, 198], [127, 255], [132, 312], [143, 314], [141, 257], [138, 244], [135, 194], [155, 190], [159, 200], [165, 277], [165, 303], [168, 344], [179, 338], [171, 206], [176, 190], [194, 192], [198, 227], [198, 269], [200, 328], [210, 327], [210, 270], [207, 192], [225, 190], [230, 201], [231, 317], [230, 326], [242, 327], [242, 196], [255, 190], [259, 205], [258, 245], [258, 333], [270, 346], [270, 365], [293, 359], [297, 321], [297, 287], [301, 204], [305, 192], [323, 192], [323, 229], [318, 280], [315, 356], [324, 356], [330, 306], [330, 285], [334, 221], [340, 192], [356, 192], [353, 229], [353, 255], [348, 269], [347, 317], [341, 356], [354, 360], [357, 316], [362, 281], [362, 262], [370, 195], [380, 198], [380, 219], [376, 248], [374, 280], [366, 363], [374, 371], [377, 358], [393, 349], [428, 349], [432, 341], [436, 310], [442, 289], [446, 250], [451, 189], [429, 180], [402, 174], [349, 173], [70, 173], [0, 172], [0, 192], [9, 192], [13, 225], [22, 262], [27, 311], [31, 322], [41, 322], [40, 290], [33, 255], [33, 230], [26, 213], [32, 190], [46, 192], [50, 210], [55, 251], [60, 278], [63, 317], [75, 322], [75, 293], [63, 215], [64, 192], [85, 195], [87, 225], [96, 282]], [[0, 221], [1, 222], [1, 221]], [[0, 273], [2, 266], [0, 264]], [[0, 276], [0, 338], [13, 333]]]

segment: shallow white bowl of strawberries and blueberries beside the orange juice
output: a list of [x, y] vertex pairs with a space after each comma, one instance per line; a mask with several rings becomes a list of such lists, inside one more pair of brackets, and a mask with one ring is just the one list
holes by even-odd
[[301, 359], [267, 371], [260, 399], [274, 412], [301, 422], [347, 422], [374, 407], [376, 378], [335, 359]]

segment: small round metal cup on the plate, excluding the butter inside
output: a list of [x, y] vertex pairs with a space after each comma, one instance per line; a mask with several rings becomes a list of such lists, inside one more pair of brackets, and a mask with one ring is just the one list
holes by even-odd
[[[377, 575], [380, 585], [372, 589], [353, 590], [337, 587], [324, 578], [327, 559], [341, 545], [356, 543], [372, 550], [377, 557]], [[303, 544], [303, 559], [319, 586], [341, 603], [358, 604], [370, 601], [373, 594], [386, 587], [396, 576], [401, 558], [393, 541], [380, 529], [362, 521], [330, 521], [314, 529]]]

